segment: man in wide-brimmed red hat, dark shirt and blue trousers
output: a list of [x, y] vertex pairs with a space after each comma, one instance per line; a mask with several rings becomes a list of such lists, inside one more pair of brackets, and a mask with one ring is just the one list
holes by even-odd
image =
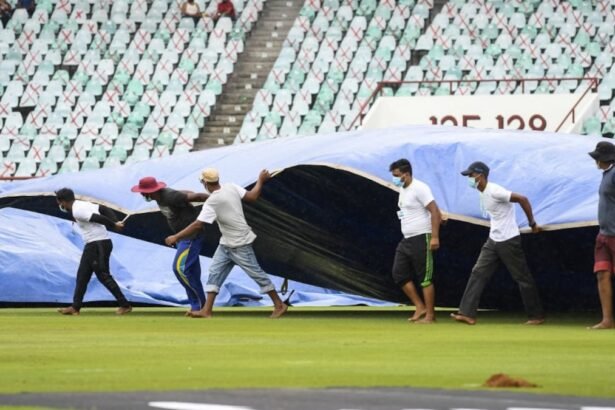
[[[197, 194], [190, 191], [176, 191], [168, 188], [162, 181], [154, 177], [145, 177], [131, 189], [139, 192], [146, 201], [156, 201], [160, 212], [166, 217], [169, 227], [174, 233], [180, 232], [192, 223], [198, 216], [198, 211], [191, 202], [205, 202], [207, 194]], [[173, 273], [179, 283], [186, 289], [190, 310], [186, 316], [201, 310], [205, 305], [205, 292], [201, 283], [201, 264], [199, 254], [203, 238], [200, 232], [185, 237], [177, 243], [177, 252], [173, 259]]]

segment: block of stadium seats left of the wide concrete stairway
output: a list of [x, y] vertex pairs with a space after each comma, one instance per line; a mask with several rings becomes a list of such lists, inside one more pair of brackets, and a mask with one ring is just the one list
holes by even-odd
[[[201, 0], [215, 12], [216, 1]], [[0, 176], [187, 152], [264, 0], [181, 18], [173, 0], [37, 1], [0, 26]]]

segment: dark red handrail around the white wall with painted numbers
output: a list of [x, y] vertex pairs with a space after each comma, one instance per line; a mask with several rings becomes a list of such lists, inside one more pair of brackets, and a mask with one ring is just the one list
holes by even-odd
[[378, 81], [378, 83], [376, 85], [376, 89], [372, 92], [372, 94], [369, 96], [369, 98], [367, 100], [365, 100], [365, 103], [361, 104], [361, 107], [359, 109], [359, 113], [357, 114], [355, 119], [350, 123], [350, 126], [348, 127], [347, 130], [351, 130], [352, 127], [357, 122], [357, 120], [360, 119], [360, 121], [363, 121], [363, 118], [365, 117], [365, 114], [366, 114], [366, 113], [364, 113], [365, 108], [367, 108], [370, 105], [370, 102], [374, 99], [376, 94], [378, 94], [380, 91], [382, 91], [382, 89], [384, 87], [401, 86], [402, 84], [449, 84], [450, 89], [452, 91], [453, 84], [493, 83], [493, 82], [511, 83], [511, 82], [515, 82], [515, 83], [521, 83], [521, 87], [522, 87], [523, 91], [525, 92], [525, 83], [528, 82], [528, 81], [549, 81], [549, 82], [551, 82], [551, 81], [590, 81], [590, 86], [588, 87], [587, 90], [585, 90], [585, 92], [581, 96], [581, 99], [579, 99], [579, 101], [577, 101], [577, 103], [571, 108], [571, 110], [568, 112], [568, 114], [564, 118], [564, 121], [562, 121], [562, 123], [557, 127], [557, 130], [559, 131], [559, 129], [563, 126], [563, 124], [566, 121], [566, 119], [571, 115], [571, 112], [572, 112], [572, 115], [573, 115], [573, 122], [574, 122], [574, 109], [582, 101], [582, 99], [587, 95], [587, 93], [589, 92], [590, 89], [592, 89], [592, 88], [595, 89], [595, 88], [598, 87], [598, 82], [600, 81], [600, 78], [598, 78], [598, 77], [536, 77], [536, 78], [489, 78], [489, 79], [484, 79], [484, 80], [461, 79], [461, 80]]

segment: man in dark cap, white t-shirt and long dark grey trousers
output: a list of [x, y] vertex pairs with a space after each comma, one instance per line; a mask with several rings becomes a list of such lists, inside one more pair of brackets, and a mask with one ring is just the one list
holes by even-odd
[[491, 219], [489, 239], [483, 245], [478, 260], [472, 269], [470, 279], [459, 304], [459, 312], [451, 317], [458, 322], [476, 324], [476, 312], [483, 289], [498, 268], [500, 262], [506, 266], [517, 282], [521, 299], [528, 314], [528, 325], [544, 322], [544, 311], [536, 283], [525, 260], [521, 247], [521, 233], [517, 226], [514, 203], [518, 203], [527, 216], [533, 233], [540, 232], [534, 220], [530, 201], [523, 195], [508, 191], [488, 182], [489, 167], [477, 161], [470, 164], [461, 175], [467, 177], [468, 185], [480, 192], [483, 215]]

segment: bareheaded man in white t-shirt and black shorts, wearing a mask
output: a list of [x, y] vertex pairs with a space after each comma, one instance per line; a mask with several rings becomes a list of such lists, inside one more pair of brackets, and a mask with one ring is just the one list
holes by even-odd
[[[441, 215], [431, 189], [412, 177], [412, 165], [407, 159], [393, 162], [389, 171], [399, 187], [399, 211], [404, 239], [395, 251], [393, 280], [415, 306], [408, 319], [416, 323], [435, 321], [435, 288], [433, 285], [433, 251], [440, 247]], [[421, 298], [414, 281], [423, 289]]]

